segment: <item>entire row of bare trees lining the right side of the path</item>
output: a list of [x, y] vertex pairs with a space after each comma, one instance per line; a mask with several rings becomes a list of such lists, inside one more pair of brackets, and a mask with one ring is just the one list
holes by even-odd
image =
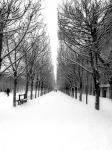
[[97, 110], [101, 83], [110, 84], [112, 98], [111, 17], [111, 0], [71, 0], [58, 8], [58, 86], [75, 87], [80, 100], [83, 91], [92, 92]]

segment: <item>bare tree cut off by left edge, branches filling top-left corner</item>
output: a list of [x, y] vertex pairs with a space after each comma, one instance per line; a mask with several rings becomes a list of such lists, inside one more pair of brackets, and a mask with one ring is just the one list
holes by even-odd
[[22, 3], [21, 0], [1, 0], [0, 2], [0, 68], [4, 59], [2, 57], [4, 37], [22, 28], [19, 22], [26, 15], [30, 5], [30, 0], [27, 3]]

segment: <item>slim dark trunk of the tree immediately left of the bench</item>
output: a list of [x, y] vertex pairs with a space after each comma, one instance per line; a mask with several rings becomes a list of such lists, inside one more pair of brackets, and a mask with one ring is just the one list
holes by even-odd
[[13, 106], [16, 107], [17, 72], [14, 72]]

